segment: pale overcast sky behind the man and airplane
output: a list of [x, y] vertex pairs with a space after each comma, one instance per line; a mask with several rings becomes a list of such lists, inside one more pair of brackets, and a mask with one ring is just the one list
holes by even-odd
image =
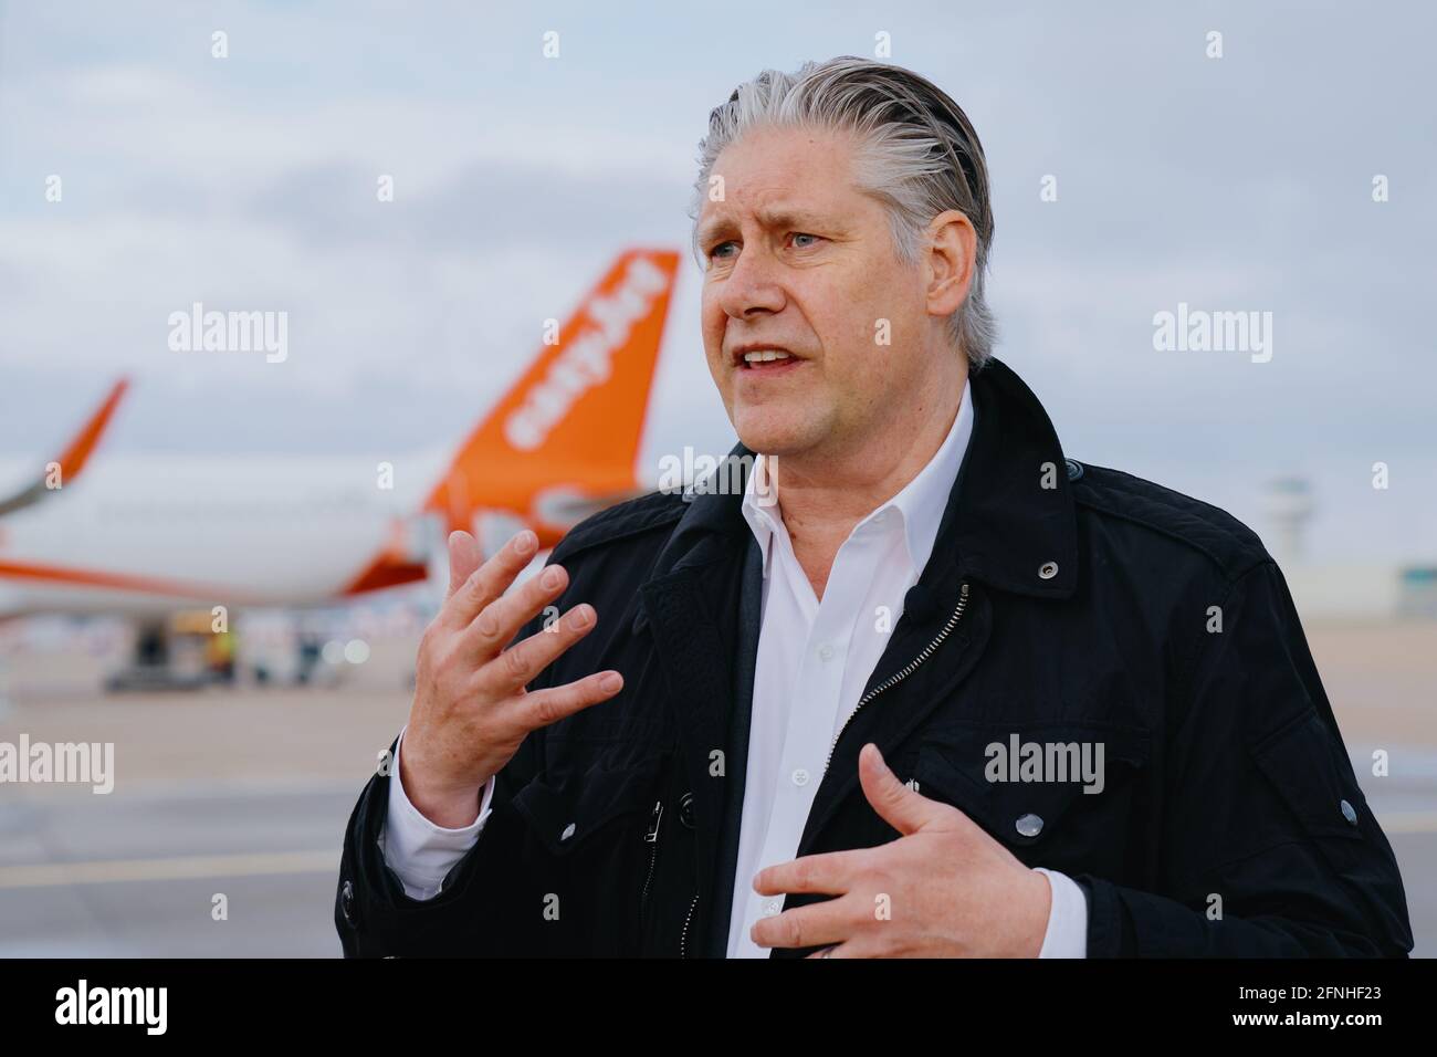
[[[1437, 559], [1431, 6], [678, 7], [0, 3], [0, 454], [50, 454], [121, 372], [114, 450], [457, 441], [621, 246], [685, 244], [736, 83], [887, 33], [983, 139], [999, 355], [1068, 454], [1265, 538], [1265, 483], [1302, 473], [1315, 557]], [[654, 477], [733, 443], [698, 278], [685, 257]], [[194, 301], [286, 311], [289, 358], [171, 352]], [[1272, 312], [1270, 361], [1154, 351], [1180, 302]]]

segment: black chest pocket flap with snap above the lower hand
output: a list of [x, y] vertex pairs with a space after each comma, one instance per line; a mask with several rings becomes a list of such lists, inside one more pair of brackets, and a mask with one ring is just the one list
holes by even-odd
[[1068, 810], [1101, 797], [1112, 765], [1148, 758], [1147, 732], [1079, 722], [966, 725], [930, 731], [918, 749], [918, 792], [943, 800], [999, 840], [1040, 843]]

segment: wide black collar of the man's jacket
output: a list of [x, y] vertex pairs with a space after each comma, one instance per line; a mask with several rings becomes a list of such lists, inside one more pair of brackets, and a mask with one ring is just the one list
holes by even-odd
[[[1015, 594], [1066, 598], [1078, 585], [1078, 519], [1053, 424], [997, 358], [970, 371], [969, 385], [973, 436], [918, 582], [937, 587], [956, 574]], [[747, 486], [754, 453], [739, 443], [729, 457], [739, 460]], [[752, 539], [741, 492], [685, 495], [688, 509], [652, 577], [717, 561], [734, 542]]]

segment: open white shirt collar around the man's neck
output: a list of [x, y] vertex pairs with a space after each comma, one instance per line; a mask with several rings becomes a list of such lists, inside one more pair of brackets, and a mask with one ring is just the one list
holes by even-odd
[[[865, 525], [877, 522], [879, 518], [897, 516], [902, 523], [904, 544], [908, 548], [908, 561], [915, 572], [921, 572], [933, 554], [934, 541], [938, 538], [938, 525], [948, 505], [953, 482], [958, 476], [963, 456], [973, 436], [973, 398], [969, 383], [963, 384], [963, 395], [958, 401], [958, 413], [948, 427], [948, 436], [924, 465], [918, 475], [910, 480], [892, 499], [879, 505], [868, 516], [854, 526], [858, 532]], [[763, 555], [763, 575], [769, 575], [769, 559], [773, 554], [776, 534], [783, 525], [777, 503], [772, 500], [773, 492], [764, 490], [764, 483], [772, 482], [767, 473], [759, 473], [759, 460], [767, 456], [754, 456], [754, 472], [749, 473], [749, 480], [743, 492], [743, 518], [749, 522], [754, 538], [759, 541], [759, 552]], [[764, 463], [766, 469], [766, 463]], [[764, 502], [764, 499], [767, 502]], [[888, 511], [897, 513], [890, 515]]]

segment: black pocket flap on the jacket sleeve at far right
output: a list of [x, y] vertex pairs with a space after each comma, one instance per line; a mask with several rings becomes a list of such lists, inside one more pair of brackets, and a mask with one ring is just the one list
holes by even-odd
[[1250, 749], [1253, 761], [1311, 836], [1362, 838], [1367, 800], [1349, 782], [1315, 710]]

